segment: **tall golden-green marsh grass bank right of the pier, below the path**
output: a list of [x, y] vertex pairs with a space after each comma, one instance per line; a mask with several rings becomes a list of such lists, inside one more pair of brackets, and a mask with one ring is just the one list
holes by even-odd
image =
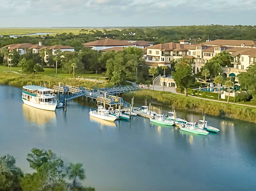
[[173, 94], [171, 92], [141, 90], [128, 92], [122, 95], [125, 99], [144, 101], [147, 103], [157, 101], [165, 106], [174, 105], [178, 109], [202, 112], [213, 116], [225, 116], [244, 121], [256, 123], [256, 108], [247, 106], [238, 106], [234, 104], [219, 103], [208, 100], [201, 100], [194, 97], [185, 97], [184, 95]]

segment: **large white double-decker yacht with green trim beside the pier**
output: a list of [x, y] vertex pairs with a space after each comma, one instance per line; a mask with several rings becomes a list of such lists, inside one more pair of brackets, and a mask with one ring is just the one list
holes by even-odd
[[23, 103], [42, 110], [55, 111], [57, 103], [54, 102], [54, 95], [51, 89], [29, 85], [22, 88]]

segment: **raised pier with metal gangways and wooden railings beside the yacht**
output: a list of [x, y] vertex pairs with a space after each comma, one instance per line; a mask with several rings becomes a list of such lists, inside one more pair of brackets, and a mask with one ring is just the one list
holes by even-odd
[[86, 87], [75, 87], [71, 85], [54, 85], [52, 90], [58, 93], [58, 98], [56, 99], [57, 108], [65, 106], [66, 110], [66, 101], [79, 98], [82, 96], [82, 99], [95, 100], [98, 103], [105, 105], [121, 105], [122, 108], [129, 108], [130, 103], [123, 100], [122, 97], [116, 96], [117, 94], [125, 93], [128, 91], [138, 90], [138, 87], [134, 86], [120, 86], [113, 88], [100, 88], [100, 89], [91, 89]]

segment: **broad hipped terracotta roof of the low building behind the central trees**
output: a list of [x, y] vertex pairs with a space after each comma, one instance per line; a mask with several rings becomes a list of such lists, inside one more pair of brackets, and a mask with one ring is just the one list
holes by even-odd
[[103, 40], [95, 40], [92, 42], [83, 43], [82, 45], [89, 46], [132, 46], [132, 43], [124, 42], [122, 40], [115, 39], [103, 39]]

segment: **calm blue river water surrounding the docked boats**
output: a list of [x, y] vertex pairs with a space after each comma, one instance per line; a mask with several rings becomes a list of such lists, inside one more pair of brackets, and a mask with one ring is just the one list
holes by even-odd
[[[69, 101], [66, 112], [48, 112], [24, 105], [21, 88], [0, 86], [0, 92], [0, 155], [13, 155], [25, 172], [32, 172], [26, 155], [36, 147], [83, 163], [85, 184], [97, 190], [256, 188], [255, 124], [206, 116], [221, 131], [203, 136], [139, 116], [130, 122], [95, 120], [88, 114], [92, 107], [83, 106], [82, 99]], [[190, 112], [177, 113], [190, 117]], [[201, 114], [194, 114], [199, 119]]]

